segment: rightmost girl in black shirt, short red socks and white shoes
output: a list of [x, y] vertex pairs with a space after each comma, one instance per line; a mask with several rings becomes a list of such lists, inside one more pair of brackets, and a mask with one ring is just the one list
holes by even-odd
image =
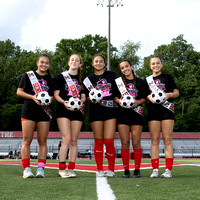
[[[156, 87], [165, 93], [164, 102], [168, 101], [168, 107], [163, 104], [155, 104], [151, 97], [151, 90], [147, 99], [148, 104], [148, 125], [151, 134], [151, 163], [153, 167], [153, 173], [151, 178], [157, 178], [159, 176], [159, 143], [160, 143], [160, 131], [162, 131], [163, 142], [165, 145], [165, 160], [166, 170], [161, 175], [163, 178], [171, 178], [171, 170], [173, 166], [173, 144], [172, 144], [172, 132], [174, 127], [174, 105], [172, 104], [172, 98], [179, 96], [177, 86], [169, 74], [161, 73], [162, 61], [158, 56], [150, 58], [150, 68], [153, 72], [152, 78]], [[148, 79], [148, 77], [147, 77]], [[151, 88], [152, 84], [146, 82], [147, 87]]]

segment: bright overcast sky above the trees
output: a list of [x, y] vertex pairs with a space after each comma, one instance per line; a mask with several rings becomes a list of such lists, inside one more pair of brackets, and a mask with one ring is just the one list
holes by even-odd
[[[25, 50], [55, 51], [61, 39], [108, 36], [108, 8], [98, 0], [0, 0], [0, 41]], [[111, 43], [141, 42], [138, 56], [153, 54], [180, 34], [200, 51], [200, 0], [123, 0], [111, 8]]]

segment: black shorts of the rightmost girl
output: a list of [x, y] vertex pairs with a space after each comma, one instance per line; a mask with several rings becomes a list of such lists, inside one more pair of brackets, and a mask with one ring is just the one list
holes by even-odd
[[175, 114], [162, 105], [148, 107], [147, 120], [148, 121], [162, 121], [167, 119], [175, 120]]

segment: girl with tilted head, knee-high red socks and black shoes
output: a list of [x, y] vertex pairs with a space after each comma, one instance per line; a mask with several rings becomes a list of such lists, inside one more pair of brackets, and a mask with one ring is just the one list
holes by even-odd
[[[137, 78], [133, 72], [133, 65], [129, 60], [122, 60], [119, 64], [122, 72], [122, 78], [127, 92], [132, 95], [135, 99], [135, 103], [131, 108], [124, 108], [121, 104], [122, 94], [117, 88], [115, 101], [119, 104], [118, 106], [118, 131], [121, 139], [121, 155], [124, 166], [124, 178], [130, 177], [129, 171], [129, 148], [130, 148], [130, 131], [132, 134], [132, 146], [134, 149], [134, 161], [135, 171], [133, 178], [139, 178], [140, 175], [140, 164], [142, 159], [142, 148], [141, 148], [141, 134], [143, 128], [144, 117], [141, 112], [138, 112], [136, 108], [146, 101], [145, 96], [145, 85], [142, 79]], [[120, 87], [120, 85], [119, 85]], [[135, 110], [134, 110], [135, 109]], [[142, 108], [140, 108], [142, 109]]]

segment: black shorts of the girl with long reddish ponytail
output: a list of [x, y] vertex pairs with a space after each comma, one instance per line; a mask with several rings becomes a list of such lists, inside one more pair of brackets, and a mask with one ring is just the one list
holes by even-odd
[[57, 108], [57, 118], [67, 118], [70, 121], [83, 121], [83, 114], [80, 110], [70, 111], [67, 108], [62, 107]]

